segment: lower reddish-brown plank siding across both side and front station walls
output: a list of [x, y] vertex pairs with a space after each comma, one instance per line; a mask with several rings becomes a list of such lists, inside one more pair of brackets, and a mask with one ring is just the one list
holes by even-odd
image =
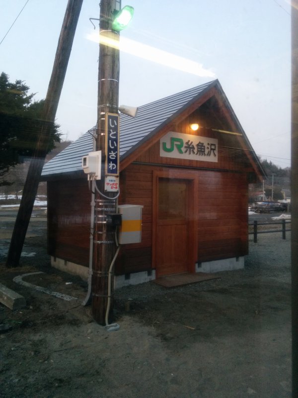
[[[121, 173], [119, 204], [143, 205], [142, 242], [123, 245], [115, 274], [152, 268], [153, 171], [173, 169], [131, 164]], [[192, 170], [198, 180], [194, 220], [198, 262], [248, 253], [247, 183], [244, 173]], [[49, 254], [88, 266], [90, 192], [85, 179], [48, 182]], [[75, 200], [74, 200], [75, 199]]]

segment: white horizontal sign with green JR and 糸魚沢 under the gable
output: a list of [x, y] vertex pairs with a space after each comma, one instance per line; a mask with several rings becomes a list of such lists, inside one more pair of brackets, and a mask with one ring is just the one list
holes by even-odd
[[218, 140], [170, 131], [160, 139], [160, 156], [218, 162]]

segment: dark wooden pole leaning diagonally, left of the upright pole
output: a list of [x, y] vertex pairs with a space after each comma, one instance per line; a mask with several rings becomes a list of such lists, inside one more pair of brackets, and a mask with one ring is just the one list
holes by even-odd
[[6, 260], [7, 267], [17, 267], [19, 265], [42, 168], [51, 139], [51, 131], [56, 117], [82, 2], [83, 0], [69, 0], [67, 4], [56, 50], [52, 76], [41, 116], [41, 130], [35, 153], [28, 169], [20, 207], [11, 236]]

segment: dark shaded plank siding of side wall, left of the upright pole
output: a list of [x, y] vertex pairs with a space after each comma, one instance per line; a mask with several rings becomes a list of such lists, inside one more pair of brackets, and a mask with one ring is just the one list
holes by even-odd
[[87, 181], [48, 182], [48, 253], [88, 266], [91, 194]]

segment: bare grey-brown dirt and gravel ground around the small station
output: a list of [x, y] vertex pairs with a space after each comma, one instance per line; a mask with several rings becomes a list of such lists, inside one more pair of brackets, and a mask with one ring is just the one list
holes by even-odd
[[[49, 267], [45, 229], [35, 225], [24, 252], [36, 255], [0, 268], [0, 282], [27, 300], [17, 311], [0, 304], [0, 324], [11, 326], [0, 334], [1, 398], [291, 397], [289, 233], [251, 237], [245, 269], [221, 279], [116, 291], [120, 329], [107, 332], [81, 305], [86, 283]], [[77, 299], [12, 281], [36, 271], [45, 274], [24, 280]]]

